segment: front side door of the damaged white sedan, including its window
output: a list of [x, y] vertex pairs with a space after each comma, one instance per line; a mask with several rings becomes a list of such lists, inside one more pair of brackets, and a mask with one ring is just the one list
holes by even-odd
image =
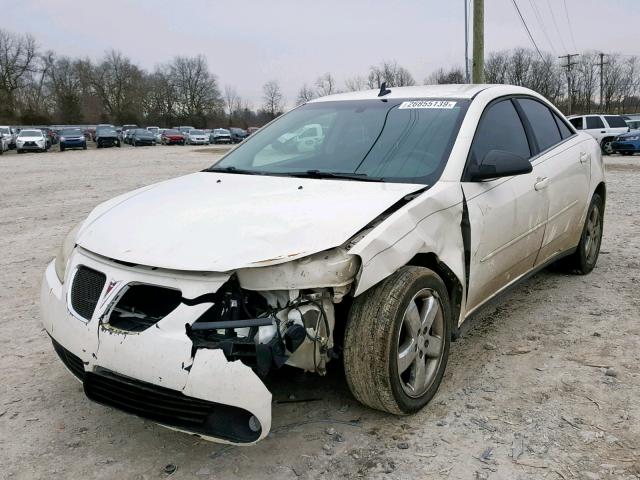
[[[532, 156], [511, 99], [491, 103], [485, 109], [469, 151], [467, 170], [490, 150], [527, 159]], [[463, 177], [470, 227], [467, 313], [534, 266], [549, 205], [537, 163], [532, 164], [530, 173], [512, 177], [476, 182]]]

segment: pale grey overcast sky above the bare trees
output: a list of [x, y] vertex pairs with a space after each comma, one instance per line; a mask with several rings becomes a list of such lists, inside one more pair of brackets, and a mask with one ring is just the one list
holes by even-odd
[[[175, 55], [201, 53], [221, 87], [233, 85], [259, 106], [262, 84], [271, 79], [292, 102], [302, 84], [324, 72], [341, 87], [370, 65], [395, 59], [422, 83], [439, 67], [464, 65], [463, 2], [2, 0], [1, 28], [29, 32], [43, 49], [69, 56], [98, 59], [117, 49], [149, 70]], [[640, 53], [640, 0], [517, 3], [543, 51]], [[485, 0], [485, 52], [519, 46], [531, 43], [512, 0]]]

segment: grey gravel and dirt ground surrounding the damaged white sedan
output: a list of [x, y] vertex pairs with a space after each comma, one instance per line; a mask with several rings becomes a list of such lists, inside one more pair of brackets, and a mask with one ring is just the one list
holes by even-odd
[[[219, 149], [218, 149], [219, 151]], [[0, 478], [640, 478], [640, 157], [609, 157], [598, 267], [544, 271], [453, 345], [411, 417], [360, 407], [337, 371], [281, 372], [272, 434], [225, 447], [89, 402], [40, 326], [39, 285], [99, 202], [210, 165], [216, 149], [0, 157]]]

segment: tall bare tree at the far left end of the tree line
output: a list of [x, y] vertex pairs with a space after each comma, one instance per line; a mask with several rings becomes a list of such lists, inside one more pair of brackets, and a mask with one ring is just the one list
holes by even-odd
[[0, 116], [16, 116], [17, 94], [35, 73], [36, 61], [36, 42], [31, 35], [0, 29]]

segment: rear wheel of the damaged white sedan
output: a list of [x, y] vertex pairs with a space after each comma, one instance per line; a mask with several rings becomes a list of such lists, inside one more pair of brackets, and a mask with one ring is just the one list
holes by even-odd
[[598, 261], [600, 244], [602, 243], [602, 227], [604, 220], [604, 202], [597, 193], [593, 194], [587, 218], [582, 227], [580, 243], [575, 253], [563, 258], [559, 266], [566, 271], [586, 275], [593, 270]]

